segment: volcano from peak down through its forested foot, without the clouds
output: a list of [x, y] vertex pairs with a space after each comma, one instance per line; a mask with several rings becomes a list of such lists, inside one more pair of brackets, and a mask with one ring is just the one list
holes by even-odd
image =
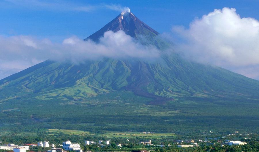
[[[103, 58], [86, 60], [84, 64], [47, 60], [0, 80], [3, 105], [0, 115], [9, 117], [1, 121], [8, 124], [9, 120], [15, 123], [25, 120], [28, 124], [40, 123], [41, 127], [60, 128], [60, 124], [69, 120], [64, 129], [78, 129], [72, 124], [93, 123], [92, 129], [110, 127], [113, 130], [123, 127], [109, 124], [152, 124], [147, 128], [155, 130], [159, 126], [163, 132], [172, 131], [172, 124], [183, 125], [182, 129], [190, 124], [199, 128], [202, 120], [215, 127], [215, 120], [223, 117], [222, 111], [232, 112], [224, 117], [227, 119], [220, 120], [226, 130], [227, 125], [232, 125], [227, 123], [228, 119], [235, 116], [240, 118], [240, 126], [251, 127], [252, 120], [258, 121], [258, 117], [254, 117], [259, 115], [256, 112], [259, 81], [220, 67], [190, 62], [175, 53], [165, 53], [167, 42], [132, 13], [120, 14], [85, 40], [98, 43], [109, 30], [123, 30], [143, 45], [155, 45], [162, 52], [161, 60]], [[28, 109], [26, 105], [31, 106]], [[64, 114], [64, 109], [69, 110], [69, 114]], [[91, 115], [86, 116], [84, 109], [91, 111]], [[47, 111], [52, 114], [46, 115]], [[127, 119], [127, 115], [132, 119]], [[97, 117], [100, 119], [94, 119]], [[198, 123], [185, 122], [189, 119], [197, 119]], [[89, 129], [89, 126], [77, 127]], [[145, 129], [144, 126], [124, 129], [130, 128]]]

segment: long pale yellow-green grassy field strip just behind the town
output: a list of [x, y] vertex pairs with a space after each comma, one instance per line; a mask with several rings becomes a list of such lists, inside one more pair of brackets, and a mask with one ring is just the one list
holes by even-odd
[[105, 134], [94, 134], [89, 131], [80, 131], [80, 130], [68, 130], [68, 129], [48, 129], [49, 135], [54, 135], [55, 133], [66, 133], [69, 135], [82, 135], [82, 136], [89, 136], [95, 135], [99, 137], [122, 137], [122, 138], [129, 138], [129, 137], [146, 137], [146, 138], [165, 138], [165, 137], [174, 137], [176, 136], [174, 133], [140, 133], [140, 132], [117, 132], [117, 131], [109, 131]]

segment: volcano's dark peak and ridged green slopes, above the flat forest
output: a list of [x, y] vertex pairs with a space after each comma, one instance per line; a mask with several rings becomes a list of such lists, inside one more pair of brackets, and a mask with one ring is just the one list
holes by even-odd
[[[98, 43], [106, 31], [124, 31], [143, 45], [161, 50], [168, 43], [133, 13], [119, 14], [87, 37]], [[127, 48], [125, 48], [127, 49]], [[35, 99], [83, 100], [126, 90], [152, 98], [149, 104], [166, 104], [175, 98], [258, 98], [259, 81], [226, 69], [161, 53], [161, 61], [103, 58], [72, 64], [46, 60], [0, 80], [0, 99], [32, 95]]]

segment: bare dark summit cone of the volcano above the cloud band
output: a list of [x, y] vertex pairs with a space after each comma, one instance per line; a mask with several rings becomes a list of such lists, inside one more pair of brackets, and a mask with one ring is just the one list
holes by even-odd
[[99, 31], [90, 35], [85, 40], [92, 39], [93, 41], [98, 42], [99, 38], [102, 37], [106, 31], [110, 30], [113, 32], [123, 30], [127, 35], [130, 35], [136, 39], [139, 39], [138, 35], [142, 35], [144, 37], [154, 37], [159, 34], [157, 31], [138, 19], [133, 13], [122, 12], [110, 23], [106, 24]]

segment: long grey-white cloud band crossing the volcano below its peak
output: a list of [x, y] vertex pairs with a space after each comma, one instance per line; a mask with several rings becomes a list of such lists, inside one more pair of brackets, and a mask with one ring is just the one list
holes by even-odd
[[153, 60], [160, 55], [157, 48], [136, 42], [124, 31], [107, 31], [98, 44], [75, 36], [62, 44], [31, 36], [0, 36], [0, 54], [0, 79], [47, 59], [79, 64], [103, 57]]

